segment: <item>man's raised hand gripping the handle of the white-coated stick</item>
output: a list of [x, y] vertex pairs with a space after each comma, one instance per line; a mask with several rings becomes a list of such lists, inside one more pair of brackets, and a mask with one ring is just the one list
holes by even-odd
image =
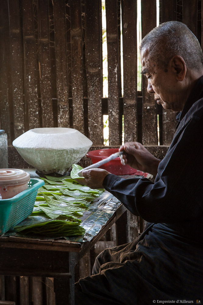
[[123, 150], [126, 152], [120, 156], [123, 165], [128, 164], [156, 177], [160, 160], [154, 157], [141, 143], [126, 142], [119, 148], [119, 151]]

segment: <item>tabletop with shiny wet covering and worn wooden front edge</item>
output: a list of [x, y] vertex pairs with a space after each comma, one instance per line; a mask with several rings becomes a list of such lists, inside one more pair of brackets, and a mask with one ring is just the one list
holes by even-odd
[[11, 235], [8, 236], [9, 231], [6, 236], [0, 237], [0, 248], [80, 252], [99, 240], [125, 210], [118, 199], [105, 191], [83, 213], [81, 226], [86, 230], [84, 237], [76, 236], [60, 239], [38, 237], [37, 235], [36, 237], [26, 237], [25, 235], [21, 237], [18, 233], [15, 234], [12, 231]]

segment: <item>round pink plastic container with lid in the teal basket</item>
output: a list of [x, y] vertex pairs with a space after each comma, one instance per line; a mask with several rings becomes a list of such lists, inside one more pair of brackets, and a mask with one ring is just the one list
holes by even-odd
[[0, 169], [0, 194], [2, 199], [12, 198], [28, 187], [30, 174], [14, 168]]

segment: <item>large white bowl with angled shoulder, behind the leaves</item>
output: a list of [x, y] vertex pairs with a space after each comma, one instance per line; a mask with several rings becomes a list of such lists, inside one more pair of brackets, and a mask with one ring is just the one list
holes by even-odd
[[76, 129], [34, 128], [13, 141], [23, 159], [43, 174], [65, 174], [92, 146]]

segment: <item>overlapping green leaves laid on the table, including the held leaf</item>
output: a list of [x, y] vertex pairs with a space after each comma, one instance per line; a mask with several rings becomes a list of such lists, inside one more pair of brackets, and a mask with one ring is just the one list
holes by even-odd
[[75, 181], [81, 169], [73, 164], [71, 176], [45, 175], [46, 178], [41, 178], [45, 185], [38, 190], [33, 213], [28, 222], [21, 222], [15, 227], [16, 231], [53, 237], [83, 235], [85, 230], [80, 226], [80, 218], [104, 190], [91, 189]]

